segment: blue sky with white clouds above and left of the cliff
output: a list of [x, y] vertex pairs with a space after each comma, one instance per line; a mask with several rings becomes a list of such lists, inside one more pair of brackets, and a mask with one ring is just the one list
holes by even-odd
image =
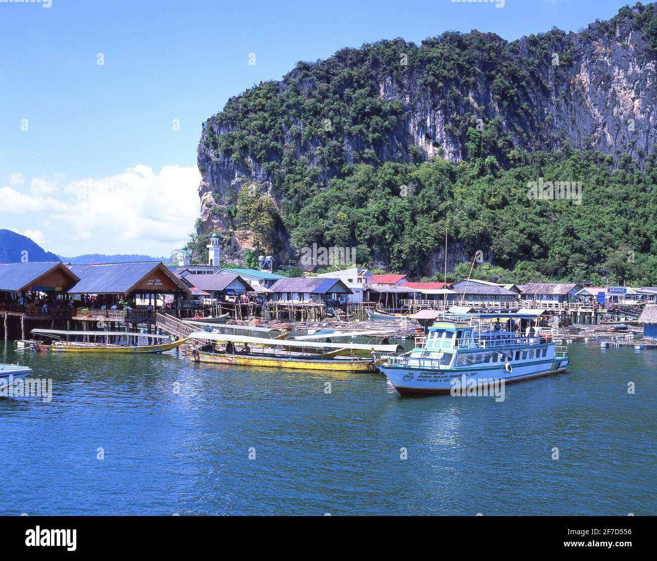
[[198, 214], [201, 123], [298, 60], [445, 30], [509, 40], [553, 26], [577, 31], [625, 4], [15, 2], [0, 0], [0, 228], [66, 256], [179, 246]]

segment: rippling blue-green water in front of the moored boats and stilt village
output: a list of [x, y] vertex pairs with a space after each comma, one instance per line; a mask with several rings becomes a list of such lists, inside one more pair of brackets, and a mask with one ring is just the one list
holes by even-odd
[[657, 350], [570, 354], [496, 403], [0, 342], [0, 361], [53, 380], [50, 402], [0, 398], [0, 514], [656, 514]]

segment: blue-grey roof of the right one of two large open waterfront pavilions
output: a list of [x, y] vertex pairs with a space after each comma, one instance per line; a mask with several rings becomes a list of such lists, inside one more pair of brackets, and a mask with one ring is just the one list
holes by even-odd
[[[142, 261], [105, 265], [69, 265], [68, 268], [78, 275], [80, 281], [68, 292], [71, 294], [125, 294], [160, 264], [158, 261]], [[164, 265], [162, 268], [166, 269]], [[170, 275], [175, 282], [181, 284], [173, 273]]]

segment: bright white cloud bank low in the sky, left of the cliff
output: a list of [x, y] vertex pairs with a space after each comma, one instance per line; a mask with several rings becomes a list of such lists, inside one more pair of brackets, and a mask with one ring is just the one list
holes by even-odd
[[193, 230], [200, 208], [199, 182], [196, 167], [164, 166], [155, 173], [143, 165], [61, 185], [34, 177], [29, 194], [17, 190], [16, 178], [16, 189], [0, 188], [0, 217], [11, 215], [19, 228], [38, 223], [45, 234], [32, 231], [68, 256], [168, 255]]

